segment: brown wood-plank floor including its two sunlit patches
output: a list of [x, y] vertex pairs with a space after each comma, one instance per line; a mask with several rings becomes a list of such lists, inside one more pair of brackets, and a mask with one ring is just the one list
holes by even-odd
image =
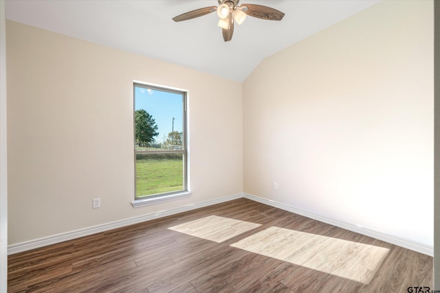
[[241, 198], [10, 255], [8, 292], [408, 292], [432, 257]]

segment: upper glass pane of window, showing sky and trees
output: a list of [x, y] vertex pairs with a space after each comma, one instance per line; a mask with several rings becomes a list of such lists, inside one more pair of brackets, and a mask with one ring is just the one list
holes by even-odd
[[183, 94], [135, 86], [135, 150], [182, 150]]

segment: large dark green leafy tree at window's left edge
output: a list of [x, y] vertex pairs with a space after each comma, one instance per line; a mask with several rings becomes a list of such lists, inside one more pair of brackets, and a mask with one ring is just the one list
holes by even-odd
[[135, 138], [140, 146], [148, 146], [155, 141], [158, 129], [155, 119], [146, 110], [135, 110]]

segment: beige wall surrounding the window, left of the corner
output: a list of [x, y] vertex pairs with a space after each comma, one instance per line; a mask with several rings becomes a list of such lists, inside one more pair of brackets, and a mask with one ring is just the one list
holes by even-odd
[[[9, 244], [243, 191], [241, 83], [6, 24]], [[133, 80], [189, 90], [190, 198], [131, 206]]]

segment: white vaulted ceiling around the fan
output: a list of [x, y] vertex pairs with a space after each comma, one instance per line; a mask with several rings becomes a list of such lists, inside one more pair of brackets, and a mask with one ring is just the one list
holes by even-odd
[[248, 17], [223, 41], [211, 13], [175, 23], [217, 0], [6, 0], [6, 19], [242, 82], [267, 56], [379, 0], [241, 0], [285, 13], [282, 21]]

